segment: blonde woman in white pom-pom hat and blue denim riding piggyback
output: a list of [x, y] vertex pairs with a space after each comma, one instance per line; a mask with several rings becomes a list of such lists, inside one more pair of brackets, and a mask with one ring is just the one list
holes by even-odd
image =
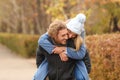
[[[87, 73], [85, 64], [82, 60], [80, 60], [84, 57], [84, 55], [82, 55], [82, 52], [79, 51], [81, 44], [82, 44], [82, 39], [81, 39], [80, 35], [82, 32], [84, 32], [85, 18], [86, 17], [84, 14], [79, 14], [67, 23], [68, 36], [69, 36], [69, 38], [74, 39], [76, 51], [75, 50], [71, 51], [71, 48], [66, 48], [66, 47], [56, 47], [54, 49], [54, 45], [52, 45], [49, 41], [47, 42], [47, 37], [49, 37], [47, 34], [42, 36], [43, 38], [41, 38], [38, 41], [39, 45], [42, 46], [49, 53], [52, 53], [52, 52], [64, 53], [64, 51], [67, 51], [67, 53], [66, 53], [67, 56], [69, 56], [73, 59], [79, 59], [79, 61], [76, 62], [76, 67], [75, 67], [76, 80], [88, 80], [88, 73]], [[82, 33], [82, 35], [84, 35], [84, 34]], [[44, 43], [44, 41], [45, 41], [45, 43]], [[48, 48], [46, 48], [46, 45], [48, 46]], [[74, 53], [74, 54], [77, 53], [78, 55], [73, 56], [70, 53]], [[39, 66], [38, 71], [36, 72], [36, 74], [34, 76], [34, 79], [35, 80], [44, 80], [45, 77], [47, 76], [47, 73], [48, 73], [47, 72], [47, 61], [44, 60], [41, 63], [41, 65]]]

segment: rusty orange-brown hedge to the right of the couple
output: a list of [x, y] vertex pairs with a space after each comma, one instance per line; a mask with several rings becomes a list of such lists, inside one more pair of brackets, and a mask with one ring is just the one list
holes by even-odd
[[86, 43], [92, 80], [120, 80], [120, 33], [88, 36]]

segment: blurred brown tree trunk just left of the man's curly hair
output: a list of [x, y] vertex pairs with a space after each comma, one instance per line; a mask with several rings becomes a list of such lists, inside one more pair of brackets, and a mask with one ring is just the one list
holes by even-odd
[[39, 28], [38, 30], [40, 34], [45, 33], [45, 31], [47, 30], [46, 28], [51, 22], [50, 19], [48, 19], [49, 17], [45, 12], [44, 4], [46, 4], [45, 0], [37, 0], [37, 21], [39, 22], [39, 26], [37, 28]]

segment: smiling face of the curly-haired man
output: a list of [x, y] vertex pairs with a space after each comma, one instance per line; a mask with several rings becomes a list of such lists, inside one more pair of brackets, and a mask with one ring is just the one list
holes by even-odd
[[68, 30], [67, 29], [62, 29], [58, 32], [56, 42], [59, 44], [66, 44], [68, 40]]

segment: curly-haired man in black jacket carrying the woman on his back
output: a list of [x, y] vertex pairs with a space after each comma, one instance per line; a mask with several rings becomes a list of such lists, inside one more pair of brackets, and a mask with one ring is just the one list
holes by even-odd
[[[55, 21], [48, 29], [48, 35], [50, 36], [48, 40], [57, 46], [66, 46], [68, 39], [67, 29], [63, 22]], [[73, 44], [71, 44], [73, 45]], [[69, 46], [69, 45], [67, 45]], [[61, 61], [58, 54], [48, 54], [41, 46], [39, 46], [41, 53], [38, 55], [43, 56], [44, 60], [47, 59], [48, 62], [48, 77], [49, 80], [74, 80], [74, 67], [76, 60], [71, 58], [68, 61]], [[41, 55], [42, 54], [42, 55]], [[39, 58], [37, 58], [39, 59]], [[40, 61], [39, 61], [40, 62]]]

